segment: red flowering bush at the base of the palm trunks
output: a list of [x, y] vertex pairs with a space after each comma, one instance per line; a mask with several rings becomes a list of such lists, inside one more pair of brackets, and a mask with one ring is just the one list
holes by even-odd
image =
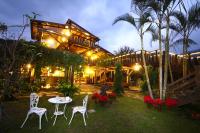
[[165, 101], [160, 98], [153, 99], [150, 96], [144, 96], [144, 102], [149, 106], [153, 106], [158, 110], [161, 110], [162, 105], [166, 105], [167, 108], [176, 107], [177, 100], [173, 98], [167, 98]]

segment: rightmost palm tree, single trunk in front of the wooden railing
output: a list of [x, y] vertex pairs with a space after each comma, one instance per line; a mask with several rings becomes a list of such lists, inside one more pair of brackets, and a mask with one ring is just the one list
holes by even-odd
[[186, 76], [188, 47], [190, 44], [196, 44], [196, 42], [190, 38], [190, 35], [200, 27], [200, 3], [197, 2], [190, 7], [186, 13], [174, 11], [172, 15], [178, 22], [170, 26], [182, 36], [182, 38], [177, 39], [174, 44], [183, 44], [183, 76]]

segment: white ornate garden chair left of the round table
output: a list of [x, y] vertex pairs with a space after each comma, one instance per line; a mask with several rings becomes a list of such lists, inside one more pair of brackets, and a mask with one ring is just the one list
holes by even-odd
[[29, 115], [33, 114], [33, 113], [35, 113], [39, 116], [39, 129], [41, 129], [41, 120], [42, 120], [43, 114], [45, 114], [46, 120], [48, 121], [48, 119], [47, 119], [47, 109], [37, 107], [38, 102], [39, 102], [39, 96], [36, 93], [31, 93], [31, 95], [30, 95], [30, 109], [27, 113], [26, 119], [24, 120], [23, 124], [21, 125], [21, 128], [26, 123]]

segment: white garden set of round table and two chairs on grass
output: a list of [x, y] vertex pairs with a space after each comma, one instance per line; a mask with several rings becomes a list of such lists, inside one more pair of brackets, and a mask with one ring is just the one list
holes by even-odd
[[[39, 102], [39, 96], [36, 93], [31, 93], [30, 95], [30, 110], [27, 113], [26, 119], [24, 120], [23, 124], [21, 125], [21, 128], [23, 128], [24, 124], [26, 123], [26, 121], [28, 120], [29, 116], [31, 114], [36, 114], [39, 116], [39, 129], [41, 128], [41, 123], [42, 123], [42, 116], [45, 115], [45, 118], [48, 122], [48, 118], [47, 118], [47, 109], [46, 108], [39, 108], [37, 107]], [[72, 99], [70, 97], [53, 97], [53, 98], [49, 98], [48, 102], [55, 104], [55, 111], [52, 115], [51, 118], [54, 118], [54, 122], [53, 122], [53, 126], [56, 123], [56, 119], [58, 116], [63, 115], [64, 118], [67, 121], [67, 117], [66, 117], [66, 106], [67, 104], [69, 104], [70, 102], [72, 102]], [[85, 96], [85, 98], [83, 99], [83, 106], [75, 106], [73, 107], [73, 113], [72, 113], [72, 117], [70, 119], [69, 125], [72, 122], [72, 119], [74, 117], [74, 114], [77, 112], [80, 112], [83, 115], [83, 120], [84, 120], [84, 125], [86, 126], [86, 121], [85, 121], [85, 115], [88, 117], [87, 114], [87, 102], [88, 102], [88, 95]], [[63, 105], [63, 110], [59, 111], [59, 105]]]

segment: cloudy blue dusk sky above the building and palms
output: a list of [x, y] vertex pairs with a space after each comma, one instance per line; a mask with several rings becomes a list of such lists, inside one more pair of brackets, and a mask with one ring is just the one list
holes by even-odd
[[[130, 11], [130, 4], [131, 0], [0, 0], [0, 22], [22, 24], [23, 14], [31, 15], [31, 12], [40, 14], [39, 20], [56, 23], [64, 24], [70, 18], [98, 36], [99, 45], [110, 52], [125, 45], [140, 50], [140, 39], [132, 25], [126, 22], [112, 25], [116, 17]], [[199, 34], [200, 30], [192, 34], [191, 38], [198, 43], [192, 50], [200, 49]], [[31, 38], [30, 28], [26, 29], [24, 38]], [[157, 43], [150, 45], [150, 40], [151, 35], [145, 34], [145, 49], [158, 49]]]

